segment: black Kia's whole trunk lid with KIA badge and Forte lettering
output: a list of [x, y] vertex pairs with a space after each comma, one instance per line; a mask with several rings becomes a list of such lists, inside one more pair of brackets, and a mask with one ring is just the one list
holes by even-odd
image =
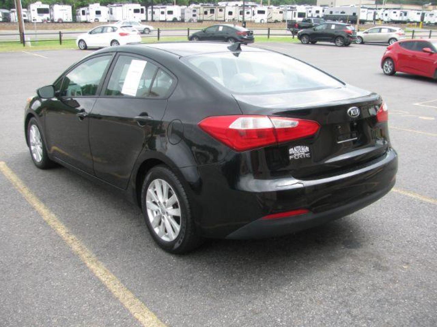
[[243, 114], [308, 119], [320, 125], [314, 136], [253, 150], [265, 156], [260, 176], [268, 170], [269, 177], [321, 178], [347, 167], [356, 169], [380, 157], [389, 145], [387, 123], [376, 120], [382, 100], [375, 93], [346, 86], [234, 97]]

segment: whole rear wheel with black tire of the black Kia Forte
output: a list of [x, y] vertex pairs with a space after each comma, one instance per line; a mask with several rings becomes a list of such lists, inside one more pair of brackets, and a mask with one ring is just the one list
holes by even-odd
[[182, 254], [201, 244], [187, 193], [166, 166], [153, 167], [146, 175], [141, 206], [147, 228], [163, 250]]

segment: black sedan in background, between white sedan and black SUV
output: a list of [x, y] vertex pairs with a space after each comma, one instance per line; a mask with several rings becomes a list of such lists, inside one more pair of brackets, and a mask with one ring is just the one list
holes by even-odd
[[228, 43], [241, 42], [253, 43], [253, 31], [241, 26], [231, 24], [212, 25], [201, 31], [193, 33], [188, 38], [190, 41], [222, 41]]

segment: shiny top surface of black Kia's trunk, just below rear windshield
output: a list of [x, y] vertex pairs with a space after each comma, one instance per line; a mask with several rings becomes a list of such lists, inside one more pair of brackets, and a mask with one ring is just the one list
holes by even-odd
[[[352, 85], [345, 85], [336, 89], [313, 89], [309, 91], [285, 92], [274, 94], [233, 94], [243, 113], [264, 114], [266, 109], [305, 108], [329, 103], [339, 104], [350, 102], [352, 99], [378, 97], [363, 89]], [[250, 108], [250, 109], [249, 109]], [[259, 108], [259, 111], [255, 108]], [[255, 110], [254, 110], [255, 109]]]

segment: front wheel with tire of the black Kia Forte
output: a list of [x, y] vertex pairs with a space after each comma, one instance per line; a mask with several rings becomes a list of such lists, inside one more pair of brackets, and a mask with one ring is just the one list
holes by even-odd
[[33, 163], [39, 169], [47, 169], [53, 167], [54, 162], [50, 160], [45, 148], [44, 138], [42, 137], [41, 129], [35, 118], [31, 118], [27, 127], [29, 151]]

